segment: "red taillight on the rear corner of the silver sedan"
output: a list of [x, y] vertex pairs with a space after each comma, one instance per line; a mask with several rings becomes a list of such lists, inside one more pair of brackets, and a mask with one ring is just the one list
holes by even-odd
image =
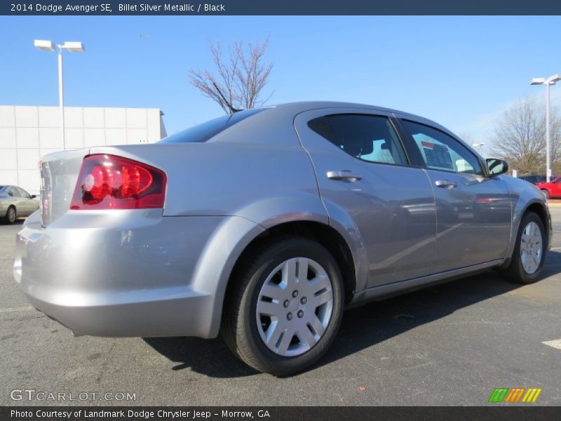
[[114, 155], [82, 162], [71, 209], [163, 208], [166, 177], [152, 166]]

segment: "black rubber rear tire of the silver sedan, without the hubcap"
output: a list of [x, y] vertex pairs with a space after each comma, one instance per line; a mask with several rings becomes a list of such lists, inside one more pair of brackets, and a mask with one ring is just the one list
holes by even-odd
[[[283, 356], [271, 351], [259, 334], [257, 301], [267, 276], [278, 265], [292, 258], [313, 260], [325, 270], [332, 286], [332, 311], [325, 333], [315, 345], [303, 354]], [[233, 288], [224, 303], [222, 338], [248, 366], [272, 375], [291, 375], [318, 361], [332, 345], [341, 324], [344, 287], [337, 262], [320, 243], [296, 236], [269, 241], [241, 263], [232, 281]]]

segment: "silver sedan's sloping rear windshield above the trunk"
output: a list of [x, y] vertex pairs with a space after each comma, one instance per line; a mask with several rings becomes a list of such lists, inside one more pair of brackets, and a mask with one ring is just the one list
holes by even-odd
[[218, 133], [225, 131], [227, 128], [234, 126], [242, 120], [250, 116], [265, 111], [266, 108], [247, 109], [239, 111], [229, 116], [218, 117], [217, 119], [206, 121], [205, 123], [198, 124], [187, 128], [187, 130], [175, 133], [175, 135], [168, 136], [160, 140], [160, 143], [202, 143], [212, 139]]

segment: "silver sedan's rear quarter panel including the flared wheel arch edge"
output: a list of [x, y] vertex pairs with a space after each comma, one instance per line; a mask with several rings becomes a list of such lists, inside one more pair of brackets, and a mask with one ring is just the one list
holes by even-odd
[[[165, 171], [164, 219], [232, 217], [198, 245], [202, 252], [191, 283], [214, 302], [207, 338], [219, 331], [231, 271], [252, 239], [283, 222], [328, 224], [309, 156], [299, 145], [160, 144], [93, 148], [90, 153], [126, 156]], [[185, 241], [189, 238], [185, 232]]]

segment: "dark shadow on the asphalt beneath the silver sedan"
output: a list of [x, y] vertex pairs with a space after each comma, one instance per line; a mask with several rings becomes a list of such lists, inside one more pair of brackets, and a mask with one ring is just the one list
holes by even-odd
[[[542, 277], [560, 272], [561, 253], [548, 252]], [[342, 326], [330, 350], [323, 359], [304, 373], [520, 286], [522, 285], [503, 279], [494, 270], [487, 270], [468, 278], [350, 309], [344, 313]], [[189, 367], [210, 377], [243, 377], [257, 374], [256, 370], [245, 366], [231, 354], [221, 339], [144, 340], [170, 361], [177, 362], [173, 370]]]

